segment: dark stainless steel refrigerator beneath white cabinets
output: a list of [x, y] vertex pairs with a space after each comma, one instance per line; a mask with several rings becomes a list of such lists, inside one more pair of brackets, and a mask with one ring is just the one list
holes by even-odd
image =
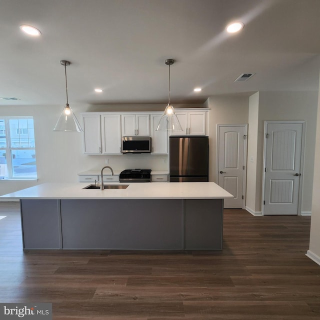
[[170, 136], [170, 182], [208, 181], [208, 137]]

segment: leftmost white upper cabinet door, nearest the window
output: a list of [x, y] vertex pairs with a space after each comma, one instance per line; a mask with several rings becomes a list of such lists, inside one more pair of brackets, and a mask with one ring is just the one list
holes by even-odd
[[82, 116], [83, 123], [83, 153], [101, 153], [100, 115], [86, 114]]

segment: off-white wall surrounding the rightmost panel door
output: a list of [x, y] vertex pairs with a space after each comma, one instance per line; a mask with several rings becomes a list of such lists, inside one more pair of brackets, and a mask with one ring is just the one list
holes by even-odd
[[[261, 211], [262, 177], [263, 177], [263, 142], [265, 120], [305, 120], [305, 157], [302, 173], [303, 190], [301, 211], [311, 212], [311, 195], [313, 180], [317, 91], [260, 91], [258, 95], [258, 123], [257, 123], [257, 156], [256, 180], [247, 180], [247, 189], [255, 190], [251, 209]], [[256, 112], [256, 111], [254, 111]], [[256, 125], [250, 123], [249, 127]], [[250, 154], [248, 154], [249, 161]], [[249, 165], [249, 162], [248, 162]], [[252, 197], [253, 199], [253, 197]]]

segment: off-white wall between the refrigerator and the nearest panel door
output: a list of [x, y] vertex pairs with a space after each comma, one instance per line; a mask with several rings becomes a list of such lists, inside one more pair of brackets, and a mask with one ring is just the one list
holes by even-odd
[[243, 95], [210, 96], [204, 103], [209, 111], [209, 181], [216, 182], [217, 124], [248, 123], [248, 97]]

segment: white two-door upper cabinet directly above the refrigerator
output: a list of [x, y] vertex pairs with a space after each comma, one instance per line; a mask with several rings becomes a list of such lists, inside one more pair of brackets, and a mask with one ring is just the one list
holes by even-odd
[[206, 111], [175, 111], [182, 131], [170, 132], [170, 135], [207, 135]]

